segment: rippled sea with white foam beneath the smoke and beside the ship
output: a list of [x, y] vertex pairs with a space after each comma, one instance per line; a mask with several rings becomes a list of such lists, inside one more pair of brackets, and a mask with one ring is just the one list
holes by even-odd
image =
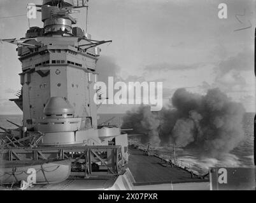
[[[122, 126], [122, 117], [125, 114], [99, 114], [98, 124], [113, 124]], [[181, 166], [186, 166], [199, 173], [206, 173], [210, 167], [252, 167], [254, 166], [254, 113], [246, 113], [243, 118], [243, 130], [245, 131], [245, 140], [241, 141], [238, 147], [234, 148], [231, 152], [224, 154], [222, 157], [210, 158], [201, 157], [197, 150], [187, 148], [174, 148], [173, 145], [165, 147], [150, 147], [153, 154], [157, 154], [163, 159], [172, 159]], [[22, 115], [0, 115], [0, 126], [7, 129], [16, 128], [13, 124], [6, 121], [15, 122], [22, 125]], [[1, 131], [1, 129], [0, 129]], [[136, 142], [141, 147], [147, 147], [140, 142], [139, 136], [129, 138], [129, 141]]]

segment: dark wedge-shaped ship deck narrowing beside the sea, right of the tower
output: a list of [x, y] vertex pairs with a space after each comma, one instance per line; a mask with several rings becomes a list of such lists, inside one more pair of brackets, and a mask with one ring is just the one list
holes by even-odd
[[129, 148], [128, 167], [136, 181], [134, 185], [158, 185], [163, 183], [206, 182], [198, 176], [192, 178], [191, 173], [181, 167], [167, 166], [155, 155], [145, 155], [143, 150]]

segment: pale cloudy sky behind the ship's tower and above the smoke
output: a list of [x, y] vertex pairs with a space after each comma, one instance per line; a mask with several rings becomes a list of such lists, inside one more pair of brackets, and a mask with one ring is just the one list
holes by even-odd
[[[0, 38], [24, 37], [26, 4], [40, 0], [0, 0]], [[218, 18], [218, 4], [227, 4], [227, 19]], [[220, 88], [232, 100], [255, 112], [255, 1], [217, 0], [90, 0], [92, 39], [101, 45], [99, 79], [162, 81], [164, 102], [178, 88], [205, 94]], [[85, 12], [73, 15], [85, 28]], [[38, 19], [31, 26], [42, 27]], [[245, 29], [246, 28], [246, 29]], [[239, 30], [240, 29], [240, 30]], [[0, 43], [0, 114], [21, 114], [9, 98], [21, 88], [15, 45]], [[101, 107], [124, 112], [130, 107]]]

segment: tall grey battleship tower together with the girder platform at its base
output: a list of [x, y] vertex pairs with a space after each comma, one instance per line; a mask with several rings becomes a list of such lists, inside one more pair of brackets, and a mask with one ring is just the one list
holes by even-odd
[[75, 27], [72, 10], [88, 8], [87, 0], [44, 0], [36, 7], [43, 28], [30, 27], [25, 38], [3, 40], [18, 45], [22, 90], [11, 101], [23, 112], [23, 126], [6, 131], [3, 157], [73, 159], [73, 168], [85, 176], [100, 168], [119, 174], [128, 162], [127, 134], [118, 126], [98, 125], [94, 102], [101, 100], [95, 87], [98, 46], [111, 41], [93, 40]]

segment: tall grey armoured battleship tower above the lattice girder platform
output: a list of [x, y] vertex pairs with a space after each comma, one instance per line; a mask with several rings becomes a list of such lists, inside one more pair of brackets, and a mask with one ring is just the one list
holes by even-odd
[[87, 7], [87, 1], [45, 0], [37, 6], [44, 27], [27, 30], [17, 48], [22, 95], [12, 101], [24, 112], [23, 127], [44, 134], [39, 145], [108, 145], [120, 129], [97, 128], [94, 102], [98, 45], [106, 41], [72, 27], [71, 10]]

